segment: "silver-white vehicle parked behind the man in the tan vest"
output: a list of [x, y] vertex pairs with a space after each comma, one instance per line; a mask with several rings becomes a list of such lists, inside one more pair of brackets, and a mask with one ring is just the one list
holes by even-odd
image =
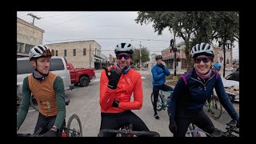
[[[53, 56], [50, 58], [50, 71], [62, 77], [65, 90], [73, 90], [74, 85], [70, 81], [70, 71], [67, 69], [66, 58]], [[33, 66], [29, 62], [29, 58], [17, 58], [17, 89], [22, 95], [23, 79], [34, 71]]]

